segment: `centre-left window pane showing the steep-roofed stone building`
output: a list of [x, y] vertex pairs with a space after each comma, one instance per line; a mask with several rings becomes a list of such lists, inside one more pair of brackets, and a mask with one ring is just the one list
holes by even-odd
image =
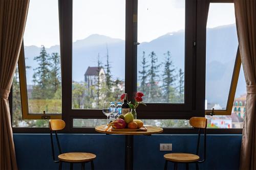
[[124, 0], [73, 1], [73, 109], [98, 109], [120, 99], [124, 38]]

